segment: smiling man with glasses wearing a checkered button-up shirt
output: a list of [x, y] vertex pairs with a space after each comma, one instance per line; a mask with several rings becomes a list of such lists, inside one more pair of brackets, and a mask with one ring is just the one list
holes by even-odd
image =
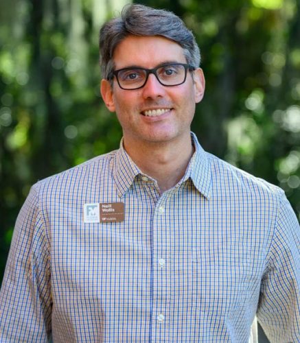
[[171, 12], [100, 31], [119, 150], [38, 182], [16, 222], [1, 342], [300, 342], [300, 233], [284, 192], [204, 152], [205, 80]]

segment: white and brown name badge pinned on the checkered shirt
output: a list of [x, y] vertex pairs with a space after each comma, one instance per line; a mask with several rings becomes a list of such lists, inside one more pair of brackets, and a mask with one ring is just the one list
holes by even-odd
[[84, 223], [113, 223], [124, 221], [124, 202], [84, 204]]

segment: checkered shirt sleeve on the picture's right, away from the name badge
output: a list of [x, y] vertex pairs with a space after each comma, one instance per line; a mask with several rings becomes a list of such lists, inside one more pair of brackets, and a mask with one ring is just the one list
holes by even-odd
[[270, 342], [300, 342], [300, 228], [281, 193], [257, 318]]

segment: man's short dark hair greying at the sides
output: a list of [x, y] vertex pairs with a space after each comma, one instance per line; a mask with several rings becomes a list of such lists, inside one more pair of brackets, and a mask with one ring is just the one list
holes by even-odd
[[163, 36], [181, 45], [188, 64], [200, 65], [200, 50], [192, 31], [173, 12], [157, 10], [137, 3], [125, 5], [121, 16], [104, 23], [100, 29], [102, 78], [114, 70], [113, 53], [127, 36]]

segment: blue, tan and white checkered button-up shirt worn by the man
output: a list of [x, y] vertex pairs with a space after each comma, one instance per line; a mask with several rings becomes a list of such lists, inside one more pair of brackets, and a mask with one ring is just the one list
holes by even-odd
[[[300, 229], [284, 192], [192, 140], [163, 194], [122, 144], [32, 187], [0, 342], [256, 342], [255, 316], [271, 342], [300, 342]], [[113, 202], [122, 222], [84, 222], [84, 204]]]

